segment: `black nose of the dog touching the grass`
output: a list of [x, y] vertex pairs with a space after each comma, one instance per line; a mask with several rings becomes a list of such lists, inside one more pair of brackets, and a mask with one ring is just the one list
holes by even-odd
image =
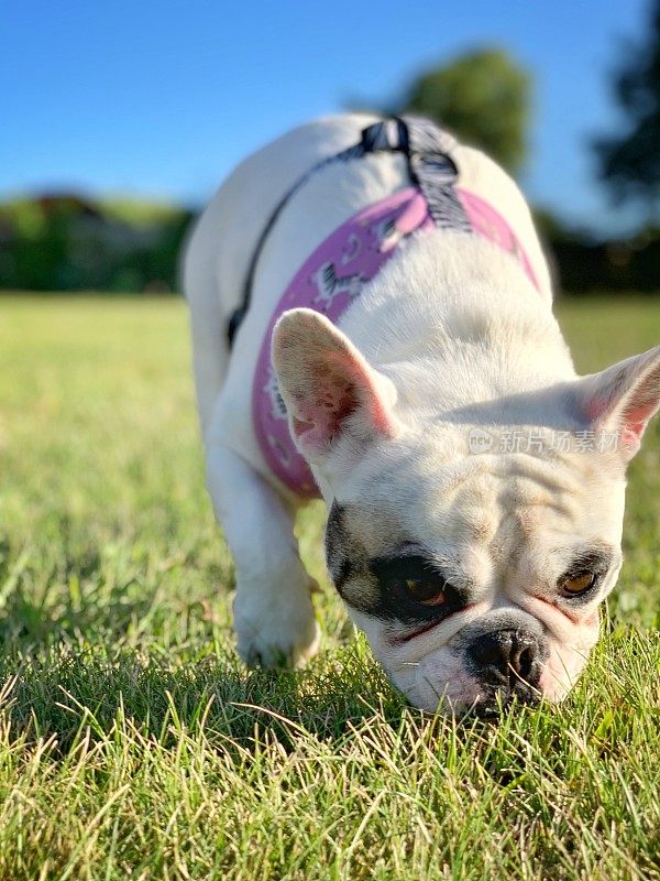
[[528, 690], [539, 684], [543, 654], [539, 638], [527, 630], [495, 630], [475, 637], [468, 656], [476, 676], [487, 685]]

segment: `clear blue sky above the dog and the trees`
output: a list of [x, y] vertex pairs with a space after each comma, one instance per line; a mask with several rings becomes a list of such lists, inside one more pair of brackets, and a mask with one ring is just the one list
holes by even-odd
[[574, 224], [630, 219], [591, 135], [620, 120], [608, 73], [647, 0], [332, 3], [11, 0], [0, 24], [0, 196], [79, 189], [201, 203], [243, 155], [483, 44], [535, 76], [527, 194]]

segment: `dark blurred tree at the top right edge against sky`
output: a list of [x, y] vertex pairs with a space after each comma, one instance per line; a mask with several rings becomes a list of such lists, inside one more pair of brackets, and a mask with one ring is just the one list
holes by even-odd
[[626, 123], [620, 134], [598, 138], [598, 176], [617, 202], [646, 205], [660, 217], [660, 0], [652, 0], [649, 28], [614, 77]]

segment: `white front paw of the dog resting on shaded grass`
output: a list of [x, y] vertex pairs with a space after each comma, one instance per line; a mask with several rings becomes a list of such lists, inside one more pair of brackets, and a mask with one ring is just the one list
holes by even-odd
[[255, 596], [241, 591], [234, 599], [238, 651], [249, 666], [300, 666], [320, 643], [309, 590]]

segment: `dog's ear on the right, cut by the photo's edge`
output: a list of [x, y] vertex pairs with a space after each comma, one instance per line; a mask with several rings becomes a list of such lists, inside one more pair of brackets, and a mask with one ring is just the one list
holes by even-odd
[[618, 435], [626, 461], [639, 449], [649, 420], [660, 407], [660, 346], [619, 361], [579, 383], [579, 405], [600, 433]]

